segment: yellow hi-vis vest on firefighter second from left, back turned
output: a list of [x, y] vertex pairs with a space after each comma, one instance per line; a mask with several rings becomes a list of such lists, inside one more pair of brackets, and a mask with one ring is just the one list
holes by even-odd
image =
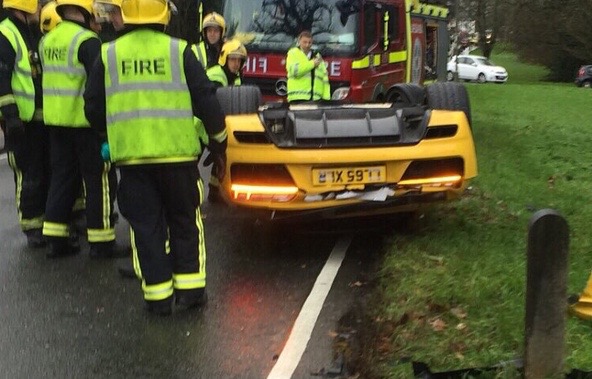
[[46, 125], [87, 128], [82, 94], [86, 70], [78, 60], [80, 45], [97, 34], [64, 20], [46, 34], [39, 50], [43, 65], [43, 119]]

